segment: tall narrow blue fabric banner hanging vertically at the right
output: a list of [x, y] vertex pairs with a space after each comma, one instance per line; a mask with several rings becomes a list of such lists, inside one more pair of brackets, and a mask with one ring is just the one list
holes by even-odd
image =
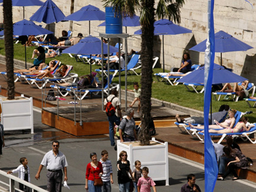
[[214, 0], [208, 0], [208, 31], [204, 57], [204, 191], [215, 188], [218, 167], [212, 139], [209, 135], [209, 111], [212, 100], [213, 65], [215, 59], [215, 28], [213, 22]]

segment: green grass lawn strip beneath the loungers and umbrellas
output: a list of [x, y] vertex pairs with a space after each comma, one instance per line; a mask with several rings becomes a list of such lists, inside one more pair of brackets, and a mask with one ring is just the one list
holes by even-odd
[[[27, 47], [27, 62], [32, 63], [31, 58], [32, 52], [36, 47]], [[0, 40], [0, 54], [5, 55], [4, 50], [4, 40]], [[25, 50], [20, 43], [14, 44], [14, 58], [19, 60], [25, 60], [24, 58]], [[76, 62], [74, 58], [69, 57], [68, 54], [63, 54], [62, 56], [57, 56], [54, 59], [60, 60], [62, 63], [73, 66], [73, 72], [78, 73], [79, 76], [89, 73], [89, 65], [82, 62]], [[46, 62], [52, 59], [46, 59]], [[92, 71], [98, 69], [98, 65], [92, 65]], [[137, 69], [137, 72], [140, 72], [140, 69]], [[153, 73], [162, 72], [162, 69], [156, 68], [153, 69]], [[116, 76], [113, 79], [113, 82], [118, 83], [119, 78]], [[124, 72], [121, 73], [121, 88], [124, 89]], [[140, 76], [135, 74], [127, 76], [127, 85], [128, 89], [133, 89], [133, 82], [140, 83]], [[180, 84], [177, 86], [171, 86], [165, 82], [158, 82], [155, 76], [153, 76], [152, 84], [152, 97], [157, 98], [158, 100], [164, 100], [178, 105], [183, 105], [184, 107], [194, 108], [196, 110], [203, 111], [203, 94], [196, 94], [194, 91], [187, 91], [184, 85]], [[222, 97], [223, 98], [223, 97]], [[254, 108], [249, 108], [245, 101], [233, 102], [230, 101], [215, 101], [212, 99], [212, 109], [213, 112], [219, 110], [220, 105], [228, 104], [231, 108], [245, 112], [245, 111], [255, 111]], [[256, 113], [248, 114], [249, 122], [256, 122]]]

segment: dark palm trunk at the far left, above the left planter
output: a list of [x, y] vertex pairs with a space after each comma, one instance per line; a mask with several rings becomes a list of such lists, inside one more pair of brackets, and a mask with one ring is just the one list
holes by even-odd
[[12, 1], [4, 0], [5, 61], [7, 68], [8, 100], [14, 99], [14, 43], [12, 28]]

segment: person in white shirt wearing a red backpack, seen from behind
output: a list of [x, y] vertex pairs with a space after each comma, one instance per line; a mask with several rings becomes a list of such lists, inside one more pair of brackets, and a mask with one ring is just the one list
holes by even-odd
[[120, 124], [121, 120], [121, 108], [120, 108], [120, 100], [117, 97], [117, 89], [112, 89], [111, 94], [105, 98], [104, 101], [104, 110], [108, 117], [109, 123], [109, 137], [111, 146], [115, 146], [114, 140], [114, 124]]

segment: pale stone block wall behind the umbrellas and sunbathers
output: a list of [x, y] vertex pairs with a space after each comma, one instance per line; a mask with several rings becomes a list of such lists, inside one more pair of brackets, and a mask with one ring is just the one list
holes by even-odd
[[[45, 1], [45, 0], [43, 0]], [[54, 0], [55, 4], [63, 11], [65, 15], [71, 14], [71, 2], [74, 2], [74, 11], [91, 4], [102, 11], [103, 2], [100, 0]], [[255, 3], [253, 6], [255, 7]], [[25, 18], [28, 20], [31, 15], [36, 12], [39, 7], [25, 7]], [[2, 7], [0, 8], [2, 9]], [[14, 22], [23, 18], [23, 8], [14, 7]], [[244, 0], [233, 1], [215, 1], [215, 32], [223, 30], [233, 37], [244, 41], [245, 43], [255, 47], [256, 39], [256, 11]], [[139, 14], [137, 14], [139, 15]], [[0, 15], [0, 22], [2, 21]], [[98, 33], [104, 33], [104, 27], [97, 27], [102, 21], [91, 21], [91, 35], [98, 36]], [[41, 23], [43, 27], [48, 28]], [[164, 36], [164, 52], [165, 52], [165, 69], [177, 67], [181, 63], [181, 57], [185, 51], [200, 43], [207, 38], [207, 1], [206, 0], [187, 0], [181, 9], [181, 26], [193, 30], [191, 34], [179, 34], [176, 36]], [[73, 36], [79, 32], [88, 36], [88, 21], [66, 21], [57, 24], [50, 24], [50, 30], [55, 31], [56, 36], [61, 35], [61, 30], [72, 29]], [[127, 27], [127, 33], [133, 34], [140, 27]], [[124, 28], [123, 28], [124, 32]], [[114, 42], [113, 42], [114, 43]], [[128, 50], [140, 50], [140, 36], [132, 36], [128, 39]], [[155, 56], [158, 56], [162, 63], [162, 36], [155, 36]], [[254, 63], [256, 56], [255, 49], [247, 52], [229, 52], [222, 54], [222, 63], [228, 68], [232, 68], [233, 72], [248, 78], [250, 81], [256, 81], [254, 75]], [[191, 52], [193, 63], [203, 63], [204, 53]], [[216, 53], [215, 62], [220, 63], [220, 53]], [[160, 65], [158, 65], [160, 66]]]

